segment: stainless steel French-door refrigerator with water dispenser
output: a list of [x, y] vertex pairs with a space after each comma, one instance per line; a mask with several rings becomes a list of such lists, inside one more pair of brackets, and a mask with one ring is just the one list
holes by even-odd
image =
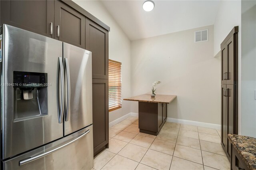
[[3, 25], [1, 168], [93, 167], [90, 51]]

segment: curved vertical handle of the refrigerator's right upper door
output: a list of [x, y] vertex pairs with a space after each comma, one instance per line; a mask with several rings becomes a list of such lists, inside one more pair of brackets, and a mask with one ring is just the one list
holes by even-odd
[[64, 58], [64, 68], [66, 72], [67, 77], [67, 103], [66, 103], [66, 110], [65, 110], [65, 121], [68, 121], [69, 114], [70, 114], [70, 72], [69, 72], [69, 66], [68, 66], [68, 59]]

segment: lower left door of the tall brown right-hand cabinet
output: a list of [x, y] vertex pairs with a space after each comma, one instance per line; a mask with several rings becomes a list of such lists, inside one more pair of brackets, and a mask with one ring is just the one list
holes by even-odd
[[221, 85], [221, 145], [226, 152], [228, 143], [226, 85]]

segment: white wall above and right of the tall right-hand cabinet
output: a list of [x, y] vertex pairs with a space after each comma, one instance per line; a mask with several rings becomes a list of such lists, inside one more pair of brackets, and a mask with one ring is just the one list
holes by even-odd
[[[221, 0], [214, 22], [214, 56], [234, 26], [238, 26], [238, 134], [241, 134], [241, 0]], [[220, 75], [221, 76], [221, 75]]]

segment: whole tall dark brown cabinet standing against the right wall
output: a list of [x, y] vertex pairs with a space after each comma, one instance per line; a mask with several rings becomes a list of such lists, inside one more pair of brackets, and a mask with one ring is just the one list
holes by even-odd
[[228, 134], [238, 133], [238, 26], [221, 43], [221, 145], [231, 160]]

